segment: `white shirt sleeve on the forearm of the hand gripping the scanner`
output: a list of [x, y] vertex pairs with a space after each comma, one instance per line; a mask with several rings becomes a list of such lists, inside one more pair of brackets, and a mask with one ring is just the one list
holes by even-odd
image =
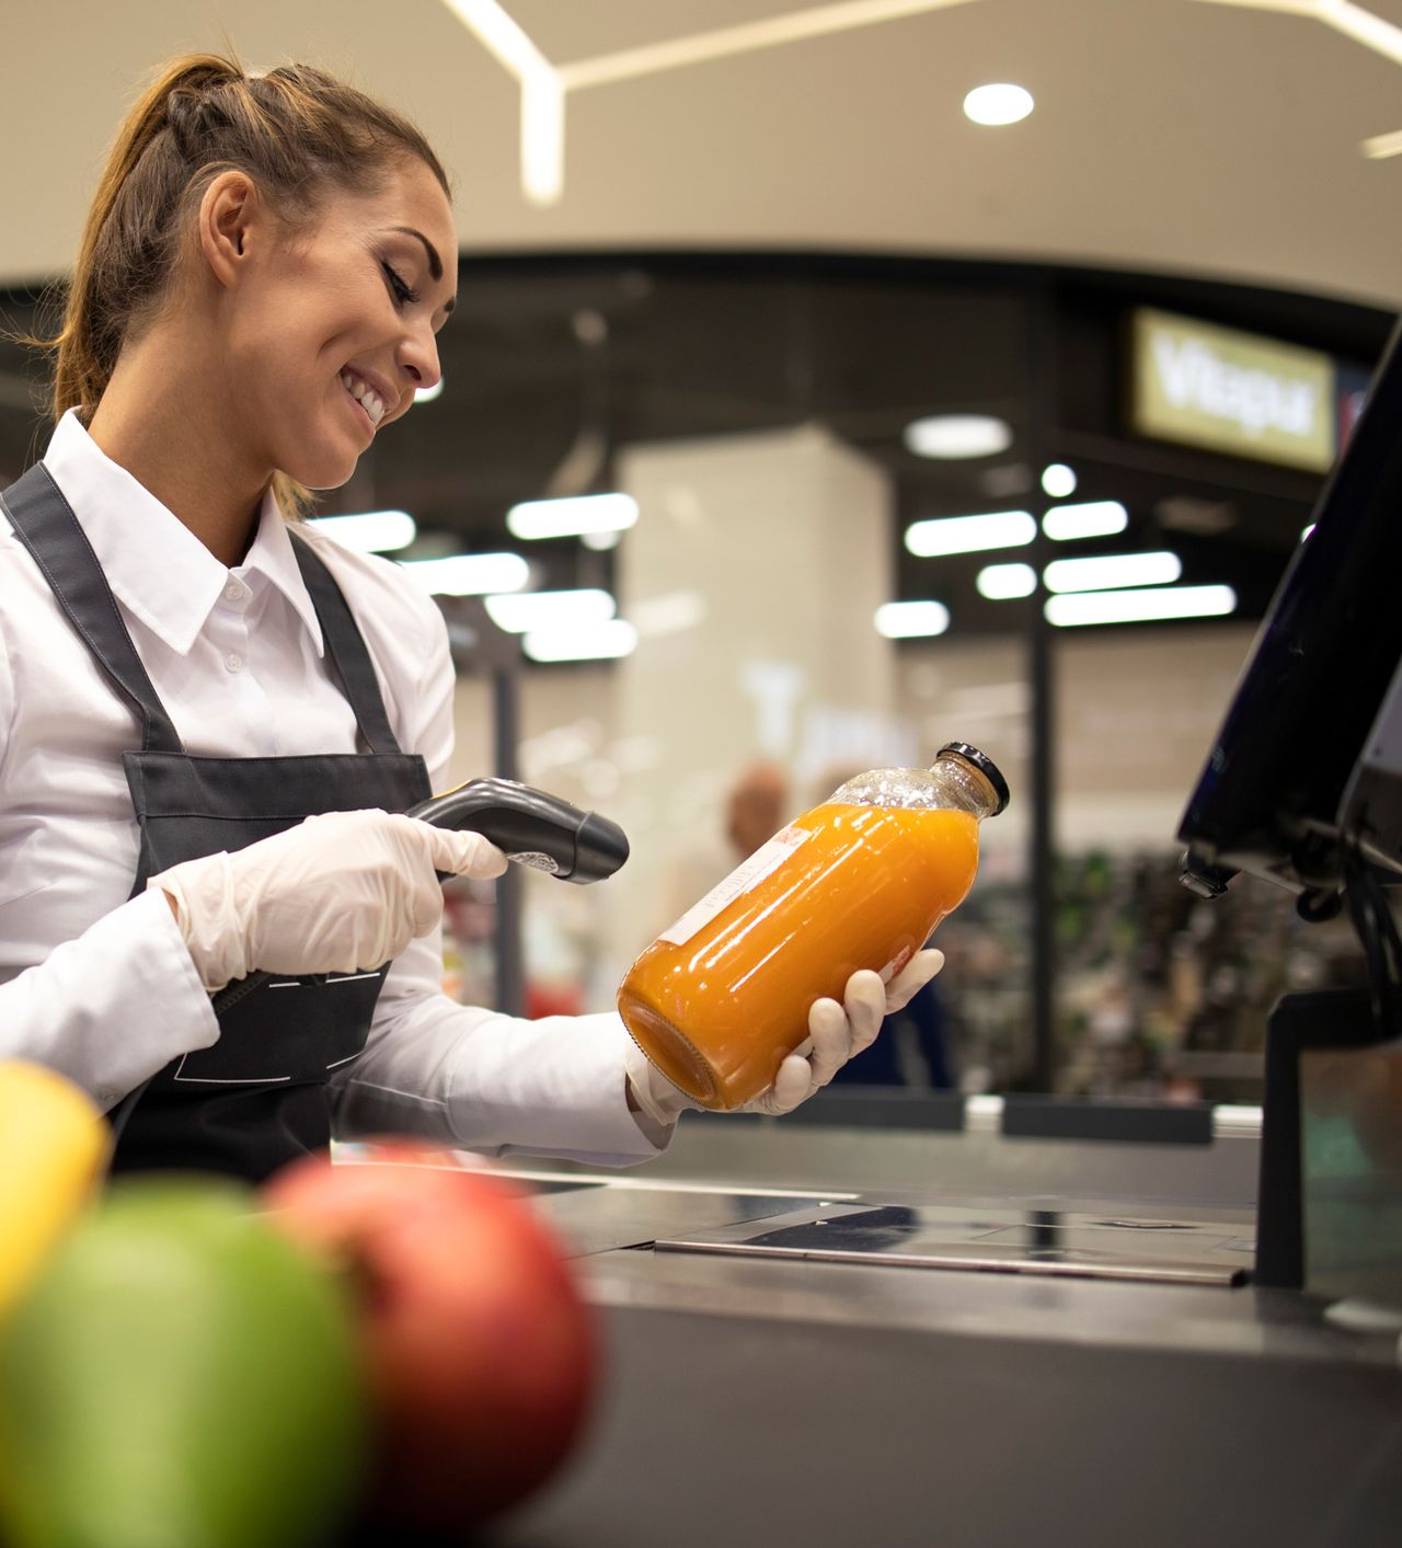
[[200, 974], [159, 892], [104, 915], [0, 985], [0, 1057], [48, 1065], [104, 1111], [218, 1039]]

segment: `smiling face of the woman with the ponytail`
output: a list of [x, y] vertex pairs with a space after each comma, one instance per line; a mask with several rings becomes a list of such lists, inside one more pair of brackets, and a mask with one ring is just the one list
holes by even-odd
[[435, 336], [458, 285], [452, 211], [415, 158], [378, 194], [327, 195], [308, 231], [262, 231], [226, 302], [226, 412], [251, 460], [334, 489], [438, 381]]

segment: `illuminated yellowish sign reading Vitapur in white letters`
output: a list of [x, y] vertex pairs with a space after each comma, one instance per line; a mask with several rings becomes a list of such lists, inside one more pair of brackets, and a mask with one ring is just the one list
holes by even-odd
[[1328, 472], [1334, 362], [1317, 350], [1142, 308], [1133, 317], [1130, 413], [1140, 435]]

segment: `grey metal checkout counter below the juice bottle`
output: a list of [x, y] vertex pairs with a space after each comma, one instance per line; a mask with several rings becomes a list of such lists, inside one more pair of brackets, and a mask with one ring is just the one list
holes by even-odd
[[[969, 1099], [958, 1130], [687, 1115], [645, 1173], [511, 1167], [607, 1359], [573, 1463], [483, 1542], [1402, 1543], [1397, 1333], [1233, 1271], [1258, 1116], [1136, 1144], [1006, 1133], [1000, 1108]], [[834, 1260], [842, 1218], [967, 1257]], [[1097, 1252], [1209, 1271], [1089, 1277]]]

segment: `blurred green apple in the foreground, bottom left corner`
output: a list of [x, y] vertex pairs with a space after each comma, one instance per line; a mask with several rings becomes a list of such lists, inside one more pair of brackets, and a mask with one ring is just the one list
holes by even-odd
[[118, 1181], [0, 1333], [8, 1548], [306, 1548], [367, 1399], [328, 1271], [210, 1178]]

